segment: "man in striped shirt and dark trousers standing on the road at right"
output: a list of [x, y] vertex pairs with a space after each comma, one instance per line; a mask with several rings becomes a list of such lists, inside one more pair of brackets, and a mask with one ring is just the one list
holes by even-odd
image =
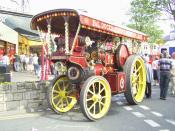
[[169, 55], [166, 51], [161, 54], [160, 60], [158, 61], [160, 69], [160, 99], [166, 100], [168, 85], [170, 81], [170, 70], [172, 68], [172, 61], [169, 59]]

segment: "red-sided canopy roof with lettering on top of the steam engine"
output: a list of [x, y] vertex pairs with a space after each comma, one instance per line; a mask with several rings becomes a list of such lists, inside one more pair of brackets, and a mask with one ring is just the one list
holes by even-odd
[[91, 30], [112, 36], [124, 36], [140, 41], [147, 41], [148, 38], [146, 34], [137, 30], [98, 20], [74, 9], [55, 9], [40, 13], [33, 17], [31, 28], [36, 30], [38, 26], [40, 30], [47, 32], [47, 22], [51, 19], [52, 33], [64, 33], [64, 18], [59, 16], [69, 16], [70, 32], [76, 32], [80, 23], [84, 30]]

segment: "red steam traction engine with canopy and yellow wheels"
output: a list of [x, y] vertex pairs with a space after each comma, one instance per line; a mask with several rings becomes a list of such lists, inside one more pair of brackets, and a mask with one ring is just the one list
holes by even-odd
[[145, 34], [73, 9], [40, 13], [32, 19], [31, 28], [46, 34], [42, 38], [58, 73], [48, 89], [55, 112], [68, 112], [79, 102], [83, 114], [94, 121], [107, 114], [113, 94], [124, 93], [129, 104], [143, 100], [144, 62], [114, 38], [145, 41]]

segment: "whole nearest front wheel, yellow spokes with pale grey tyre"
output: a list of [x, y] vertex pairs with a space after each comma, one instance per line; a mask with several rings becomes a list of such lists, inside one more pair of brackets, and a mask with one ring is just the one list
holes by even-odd
[[92, 121], [106, 115], [111, 105], [111, 88], [101, 76], [88, 78], [80, 93], [80, 107], [83, 114]]

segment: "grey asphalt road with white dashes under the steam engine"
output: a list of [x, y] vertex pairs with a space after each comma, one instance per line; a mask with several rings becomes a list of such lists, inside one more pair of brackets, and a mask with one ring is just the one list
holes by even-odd
[[65, 114], [42, 111], [0, 117], [0, 131], [175, 131], [175, 97], [159, 99], [153, 88], [151, 99], [136, 106], [127, 104], [123, 95], [112, 98], [111, 108], [103, 119], [88, 121], [80, 109]]

